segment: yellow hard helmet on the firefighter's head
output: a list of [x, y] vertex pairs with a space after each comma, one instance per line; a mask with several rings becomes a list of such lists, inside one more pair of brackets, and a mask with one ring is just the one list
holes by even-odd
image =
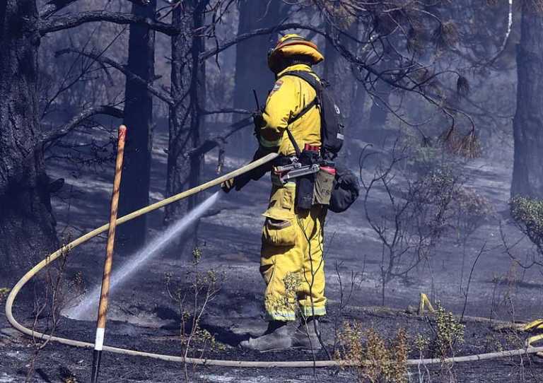
[[279, 39], [277, 45], [268, 52], [268, 66], [271, 71], [277, 73], [281, 68], [283, 59], [303, 56], [310, 64], [318, 64], [325, 57], [317, 49], [317, 45], [305, 40], [300, 35], [284, 35]]

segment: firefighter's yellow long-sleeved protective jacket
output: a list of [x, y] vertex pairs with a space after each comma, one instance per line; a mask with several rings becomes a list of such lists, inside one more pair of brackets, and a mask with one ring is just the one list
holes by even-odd
[[[269, 93], [264, 109], [265, 125], [260, 129], [259, 143], [266, 151], [274, 151], [281, 155], [293, 155], [296, 153], [294, 146], [288, 139], [286, 128], [291, 131], [300, 150], [306, 143], [312, 146], [320, 146], [320, 111], [317, 106], [312, 107], [307, 113], [291, 125], [288, 119], [296, 117], [315, 99], [315, 90], [303, 79], [296, 76], [282, 76], [289, 71], [311, 71], [311, 67], [305, 64], [288, 66], [277, 74], [278, 80]], [[315, 75], [315, 77], [317, 77]]]

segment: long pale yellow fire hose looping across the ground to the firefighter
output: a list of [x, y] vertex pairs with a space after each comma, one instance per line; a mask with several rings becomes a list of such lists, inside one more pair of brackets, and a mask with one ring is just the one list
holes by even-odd
[[[182, 192], [180, 194], [176, 194], [175, 196], [171, 196], [167, 199], [163, 199], [162, 201], [158, 201], [156, 202], [156, 204], [152, 204], [152, 205], [146, 206], [145, 208], [141, 208], [137, 211], [133, 211], [132, 213], [127, 214], [127, 216], [117, 218], [117, 225], [125, 223], [139, 216], [143, 216], [146, 213], [154, 211], [168, 204], [172, 204], [175, 201], [180, 201], [181, 199], [185, 199], [188, 196], [192, 196], [193, 194], [203, 192], [204, 190], [209, 189], [210, 187], [214, 187], [218, 184], [221, 184], [222, 182], [225, 182], [226, 180], [230, 178], [243, 175], [244, 173], [249, 172], [250, 170], [253, 170], [256, 167], [259, 167], [260, 165], [269, 163], [269, 161], [273, 160], [276, 157], [277, 157], [276, 153], [271, 153], [269, 155], [266, 155], [263, 158], [260, 158], [259, 160], [253, 163], [250, 163], [249, 165], [240, 167], [240, 169], [230, 172], [227, 175], [223, 175], [209, 182], [206, 182], [205, 184], [202, 184], [199, 187], [194, 187], [192, 189], [187, 190], [186, 192]], [[86, 235], [78, 237], [76, 240], [70, 242], [69, 244], [64, 245], [62, 248], [58, 249], [56, 252], [50, 254], [48, 257], [40, 261], [40, 263], [36, 264], [32, 269], [30, 269], [30, 271], [25, 273], [25, 275], [16, 283], [16, 285], [13, 286], [6, 300], [6, 317], [8, 318], [8, 321], [11, 324], [11, 326], [13, 326], [15, 329], [17, 329], [18, 331], [21, 331], [21, 333], [26, 334], [28, 336], [42, 338], [44, 340], [48, 339], [50, 341], [66, 344], [68, 346], [82, 347], [82, 348], [94, 347], [93, 343], [75, 341], [73, 339], [61, 338], [59, 336], [50, 336], [47, 334], [34, 331], [32, 329], [28, 329], [27, 327], [17, 322], [15, 317], [13, 317], [13, 302], [15, 302], [15, 299], [18, 293], [21, 291], [21, 288], [23, 288], [23, 286], [26, 283], [28, 283], [28, 281], [30, 281], [30, 279], [33, 278], [33, 276], [35, 276], [40, 270], [44, 269], [52, 261], [58, 259], [62, 254], [69, 254], [69, 251], [71, 249], [74, 249], [80, 244], [83, 244], [84, 242], [91, 240], [91, 238], [105, 232], [106, 230], [108, 230], [108, 228], [109, 228], [109, 224], [106, 224], [106, 225], [100, 226], [100, 228], [97, 228], [95, 230], [92, 230], [91, 232], [88, 232]], [[201, 358], [184, 358], [182, 356], [177, 356], [177, 355], [146, 353], [144, 351], [129, 350], [127, 348], [117, 348], [117, 347], [111, 347], [111, 346], [104, 346], [103, 350], [110, 351], [111, 353], [119, 353], [123, 355], [145, 356], [148, 358], [169, 360], [171, 362], [189, 363], [189, 364], [194, 364], [194, 365], [214, 365], [214, 366], [219, 366], [219, 367], [259, 367], [259, 368], [262, 368], [262, 367], [291, 367], [291, 368], [305, 367], [305, 368], [311, 368], [311, 367], [354, 366], [354, 365], [360, 364], [360, 362], [352, 361], [352, 360], [317, 360], [315, 362], [311, 360], [288, 361], [288, 362], [274, 362], [274, 361], [258, 362], [258, 361], [248, 361], [248, 360], [213, 360], [213, 359], [201, 359]], [[445, 358], [445, 359], [441, 359], [441, 358], [410, 359], [407, 361], [407, 365], [431, 365], [431, 364], [439, 364], [439, 363], [473, 362], [473, 361], [479, 361], [479, 360], [489, 360], [489, 359], [496, 359], [496, 358], [507, 358], [507, 357], [518, 356], [518, 355], [527, 355], [527, 354], [539, 353], [539, 352], [543, 352], [543, 347], [533, 347], [530, 344], [527, 344], [525, 348], [519, 348], [517, 350], [500, 351], [496, 353], [483, 353], [483, 354], [477, 354], [477, 355], [467, 355], [467, 356], [459, 356], [455, 358]]]

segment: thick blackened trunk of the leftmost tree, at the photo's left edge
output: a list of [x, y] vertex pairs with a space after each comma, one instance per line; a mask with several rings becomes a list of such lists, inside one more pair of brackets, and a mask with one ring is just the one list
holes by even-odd
[[0, 3], [0, 273], [19, 276], [57, 247], [38, 122], [35, 0]]

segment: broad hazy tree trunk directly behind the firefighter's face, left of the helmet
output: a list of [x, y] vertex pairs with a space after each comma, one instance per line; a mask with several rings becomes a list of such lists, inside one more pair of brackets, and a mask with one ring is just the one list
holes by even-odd
[[[280, 4], [281, 1], [240, 1], [238, 35], [279, 23]], [[233, 105], [235, 108], [256, 109], [253, 89], [257, 91], [261, 107], [264, 106], [268, 90], [274, 83], [274, 74], [268, 69], [267, 51], [275, 40], [276, 35], [261, 35], [237, 45]], [[240, 131], [231, 141], [238, 143], [236, 148], [240, 148], [243, 155], [252, 155], [257, 146], [254, 137], [247, 134], [246, 130]]]

